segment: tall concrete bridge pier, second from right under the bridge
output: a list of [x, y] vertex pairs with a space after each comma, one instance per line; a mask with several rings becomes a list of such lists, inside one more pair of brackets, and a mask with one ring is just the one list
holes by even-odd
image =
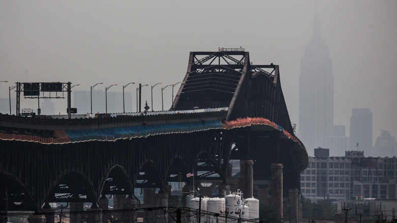
[[281, 163], [271, 164], [271, 205], [280, 219], [282, 219], [282, 168]]

